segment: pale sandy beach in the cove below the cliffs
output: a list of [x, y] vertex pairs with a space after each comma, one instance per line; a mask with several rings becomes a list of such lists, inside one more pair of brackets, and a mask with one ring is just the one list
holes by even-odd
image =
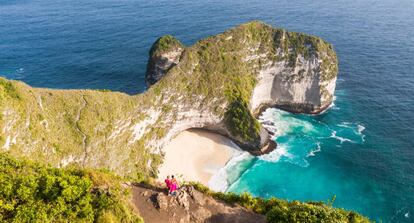
[[175, 175], [181, 180], [208, 185], [210, 178], [237, 152], [236, 148], [228, 138], [219, 134], [184, 131], [163, 149], [165, 157], [158, 179], [163, 182], [167, 175]]

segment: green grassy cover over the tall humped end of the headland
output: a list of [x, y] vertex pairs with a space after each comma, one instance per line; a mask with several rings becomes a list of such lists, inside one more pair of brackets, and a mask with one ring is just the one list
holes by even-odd
[[[161, 45], [159, 42], [154, 46]], [[249, 104], [258, 69], [281, 60], [295, 66], [299, 55], [324, 58], [325, 54], [335, 55], [332, 46], [319, 37], [275, 29], [262, 22], [250, 22], [186, 48], [180, 63], [170, 69], [153, 89], [157, 95], [162, 94], [160, 89], [191, 95], [183, 99], [184, 103], [200, 104], [199, 109], [211, 110], [222, 116], [230, 133], [243, 143], [257, 142], [259, 124], [251, 114]], [[336, 57], [329, 57], [323, 66], [334, 66], [333, 61]], [[323, 73], [323, 78], [336, 75], [335, 70], [328, 73], [330, 76]], [[292, 77], [305, 75], [301, 73], [300, 77]], [[226, 107], [220, 107], [221, 104], [226, 104]]]

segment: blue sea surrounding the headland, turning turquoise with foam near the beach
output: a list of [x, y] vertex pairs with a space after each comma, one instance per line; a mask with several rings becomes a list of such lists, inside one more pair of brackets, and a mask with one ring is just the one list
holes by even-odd
[[326, 201], [414, 222], [413, 0], [0, 0], [0, 75], [49, 88], [145, 91], [148, 51], [250, 20], [323, 37], [339, 58], [334, 106], [271, 109], [279, 147], [240, 159], [228, 190]]

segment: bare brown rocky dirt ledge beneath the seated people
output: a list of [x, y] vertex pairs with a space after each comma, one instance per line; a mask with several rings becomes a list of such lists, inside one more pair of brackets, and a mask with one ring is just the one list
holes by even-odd
[[238, 205], [230, 206], [213, 199], [193, 187], [184, 187], [176, 197], [166, 190], [133, 186], [133, 203], [147, 223], [264, 223], [265, 217]]

